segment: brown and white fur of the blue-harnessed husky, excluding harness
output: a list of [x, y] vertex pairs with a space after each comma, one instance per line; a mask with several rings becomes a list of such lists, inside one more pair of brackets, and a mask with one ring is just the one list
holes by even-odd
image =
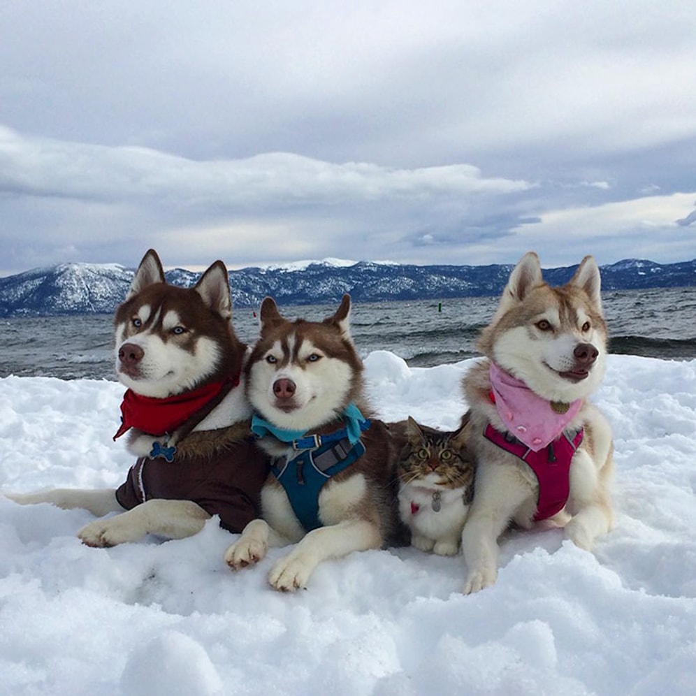
[[[274, 426], [326, 434], [342, 426], [342, 410], [363, 396], [363, 365], [349, 334], [350, 298], [321, 322], [288, 321], [272, 299], [261, 305], [261, 337], [247, 363], [247, 395]], [[305, 588], [314, 568], [351, 551], [379, 549], [398, 528], [397, 446], [386, 425], [372, 420], [361, 440], [363, 456], [335, 474], [319, 493], [321, 526], [307, 532], [288, 495], [272, 474], [261, 491], [263, 519], [247, 525], [224, 560], [233, 570], [258, 563], [269, 546], [296, 544], [270, 570], [270, 585], [282, 591]], [[291, 457], [286, 442], [266, 435], [259, 444], [272, 457]]]

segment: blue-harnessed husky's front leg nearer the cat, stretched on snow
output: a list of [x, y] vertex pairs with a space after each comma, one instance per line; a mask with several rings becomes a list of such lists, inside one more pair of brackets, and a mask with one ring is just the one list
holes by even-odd
[[310, 575], [322, 560], [381, 546], [379, 527], [364, 519], [320, 527], [309, 532], [293, 551], [277, 561], [268, 574], [268, 582], [276, 590], [294, 592], [307, 587]]

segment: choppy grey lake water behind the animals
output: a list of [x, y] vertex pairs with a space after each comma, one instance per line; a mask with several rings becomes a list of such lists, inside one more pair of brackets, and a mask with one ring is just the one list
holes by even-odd
[[[686, 360], [696, 358], [696, 287], [611, 291], [602, 294], [612, 353]], [[491, 319], [497, 297], [438, 303], [385, 302], [353, 305], [351, 331], [364, 357], [389, 350], [415, 367], [454, 363], [479, 355], [475, 342]], [[289, 317], [323, 319], [338, 305], [281, 307]], [[233, 315], [241, 340], [258, 335], [254, 310]], [[32, 317], [0, 321], [0, 377], [115, 379], [112, 318]]]

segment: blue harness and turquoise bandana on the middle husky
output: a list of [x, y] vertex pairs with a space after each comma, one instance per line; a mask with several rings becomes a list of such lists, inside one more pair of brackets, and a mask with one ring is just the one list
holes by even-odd
[[[307, 532], [321, 527], [319, 492], [331, 477], [342, 472], [365, 452], [360, 434], [370, 428], [358, 407], [349, 405], [344, 412], [345, 427], [328, 435], [297, 435], [297, 431], [281, 431], [259, 416], [252, 419], [252, 432], [260, 437], [273, 435], [288, 442], [298, 454], [278, 457], [270, 470], [287, 493], [290, 505]], [[269, 427], [270, 426], [270, 427]]]

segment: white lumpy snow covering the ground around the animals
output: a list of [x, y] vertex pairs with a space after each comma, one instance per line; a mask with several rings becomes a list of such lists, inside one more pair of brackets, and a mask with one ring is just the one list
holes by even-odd
[[[454, 428], [472, 361], [365, 361], [385, 419]], [[132, 463], [115, 382], [0, 379], [0, 485], [117, 486]], [[502, 539], [498, 583], [460, 593], [463, 559], [354, 553], [282, 595], [222, 563], [211, 520], [180, 541], [89, 549], [92, 519], [0, 497], [0, 694], [693, 693], [696, 361], [609, 356], [595, 396], [616, 444], [616, 526], [594, 553], [539, 526]]]

